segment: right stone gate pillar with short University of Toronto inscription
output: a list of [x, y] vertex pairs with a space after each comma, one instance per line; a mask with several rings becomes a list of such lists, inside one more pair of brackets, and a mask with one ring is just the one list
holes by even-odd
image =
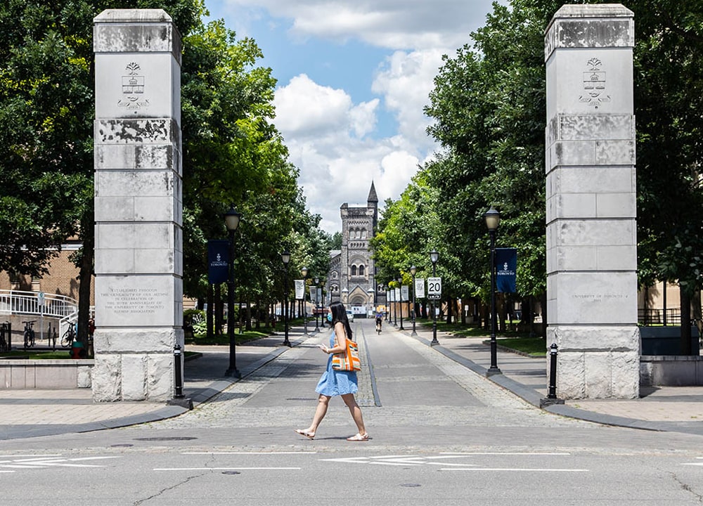
[[547, 344], [562, 398], [639, 394], [633, 13], [566, 5], [546, 32]]

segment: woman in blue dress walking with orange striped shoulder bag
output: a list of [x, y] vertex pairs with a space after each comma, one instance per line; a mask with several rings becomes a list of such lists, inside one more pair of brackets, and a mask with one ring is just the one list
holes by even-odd
[[332, 356], [335, 353], [346, 353], [347, 339], [352, 339], [352, 327], [349, 326], [349, 319], [347, 318], [344, 304], [341, 302], [330, 304], [330, 313], [327, 319], [331, 323], [333, 331], [330, 334], [329, 346], [318, 344], [319, 348], [328, 353], [330, 357], [327, 361], [327, 370], [325, 370], [315, 388], [315, 391], [319, 394], [317, 408], [310, 427], [307, 429], [295, 429], [295, 432], [308, 439], [314, 439], [317, 428], [327, 413], [330, 398], [342, 396], [342, 400], [349, 408], [349, 412], [352, 413], [356, 428], [359, 430], [356, 436], [347, 438], [347, 441], [368, 441], [366, 427], [363, 426], [361, 408], [359, 408], [359, 404], [356, 403], [354, 398], [354, 394], [359, 390], [356, 371], [341, 371], [332, 368]]

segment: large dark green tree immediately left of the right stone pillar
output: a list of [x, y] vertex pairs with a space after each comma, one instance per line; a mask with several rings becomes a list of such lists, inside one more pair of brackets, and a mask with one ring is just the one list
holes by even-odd
[[501, 212], [498, 246], [518, 249], [518, 292], [540, 297], [546, 290], [542, 47], [547, 9], [522, 0], [510, 7], [494, 5], [486, 25], [472, 34], [473, 44], [444, 58], [425, 108], [435, 119], [428, 132], [443, 148], [426, 167], [441, 202], [442, 257], [450, 261], [460, 295], [484, 301], [490, 271], [483, 215], [491, 205]]

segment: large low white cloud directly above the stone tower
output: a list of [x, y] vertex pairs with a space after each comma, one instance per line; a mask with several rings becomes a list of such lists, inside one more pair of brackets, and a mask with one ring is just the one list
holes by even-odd
[[340, 228], [342, 203], [365, 202], [371, 181], [381, 201], [396, 198], [423, 156], [402, 136], [363, 138], [375, 122], [377, 101], [354, 105], [343, 90], [320, 86], [307, 76], [276, 90], [274, 104], [276, 126], [290, 161], [300, 169], [309, 209], [323, 216], [321, 226], [330, 233]]

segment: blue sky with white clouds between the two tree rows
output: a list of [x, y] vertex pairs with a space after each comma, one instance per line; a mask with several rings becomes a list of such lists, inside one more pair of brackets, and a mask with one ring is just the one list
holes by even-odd
[[[501, 1], [505, 4], [505, 0]], [[311, 212], [330, 233], [340, 205], [397, 199], [438, 149], [423, 114], [441, 56], [484, 24], [491, 0], [205, 0], [271, 67], [276, 124]]]

